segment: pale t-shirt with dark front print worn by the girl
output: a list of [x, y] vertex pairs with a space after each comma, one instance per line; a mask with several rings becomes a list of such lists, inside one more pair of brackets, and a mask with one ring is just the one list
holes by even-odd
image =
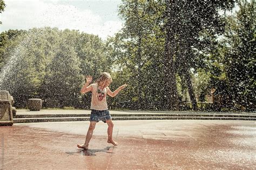
[[90, 86], [92, 87], [91, 109], [108, 110], [106, 102], [107, 88], [100, 89], [96, 83]]

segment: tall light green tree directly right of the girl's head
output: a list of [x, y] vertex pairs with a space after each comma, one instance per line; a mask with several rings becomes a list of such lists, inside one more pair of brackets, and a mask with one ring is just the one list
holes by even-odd
[[159, 10], [163, 10], [163, 6], [153, 1], [124, 1], [119, 9], [125, 24], [114, 38], [116, 55], [113, 58], [117, 58], [119, 73], [129, 75], [130, 100], [125, 101], [131, 101], [133, 109], [159, 109], [163, 106], [152, 95], [161, 98], [163, 89], [160, 86], [163, 73], [160, 73], [158, 63], [164, 43]]

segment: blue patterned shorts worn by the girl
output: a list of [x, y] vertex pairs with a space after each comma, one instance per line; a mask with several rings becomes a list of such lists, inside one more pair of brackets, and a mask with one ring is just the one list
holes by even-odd
[[91, 110], [90, 122], [102, 121], [106, 123], [106, 120], [112, 119], [109, 110]]

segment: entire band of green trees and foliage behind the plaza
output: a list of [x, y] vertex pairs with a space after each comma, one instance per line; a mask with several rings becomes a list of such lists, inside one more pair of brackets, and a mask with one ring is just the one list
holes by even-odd
[[[110, 72], [110, 89], [128, 84], [120, 95], [109, 97], [111, 109], [169, 110], [179, 103], [180, 110], [214, 110], [214, 104], [204, 103], [214, 88], [215, 95], [228, 96], [218, 109], [252, 110], [255, 4], [238, 1], [239, 11], [226, 16], [233, 5], [123, 1], [119, 16], [124, 27], [106, 41], [50, 27], [2, 32], [0, 88], [10, 91], [16, 107], [39, 97], [44, 107], [88, 108], [91, 94], [79, 93], [84, 75], [96, 80]], [[187, 91], [199, 103], [181, 102]]]

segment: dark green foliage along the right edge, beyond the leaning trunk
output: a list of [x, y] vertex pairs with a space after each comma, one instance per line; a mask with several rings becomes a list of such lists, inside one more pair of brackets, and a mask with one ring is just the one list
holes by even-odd
[[223, 95], [221, 107], [253, 110], [255, 105], [255, 3], [239, 2], [239, 10], [226, 16], [222, 37], [208, 38], [210, 53], [201, 53], [201, 68], [210, 73], [209, 89]]

